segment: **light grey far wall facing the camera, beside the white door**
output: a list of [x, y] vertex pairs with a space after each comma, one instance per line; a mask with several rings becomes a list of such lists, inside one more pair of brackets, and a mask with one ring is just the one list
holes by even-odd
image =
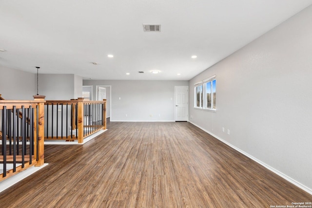
[[188, 86], [189, 82], [83, 80], [83, 85], [93, 85], [94, 91], [96, 85], [112, 86], [111, 121], [174, 121], [175, 85]]

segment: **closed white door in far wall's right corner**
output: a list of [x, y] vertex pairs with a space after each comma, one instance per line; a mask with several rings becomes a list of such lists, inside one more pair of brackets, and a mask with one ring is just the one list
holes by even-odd
[[176, 121], [187, 121], [189, 116], [189, 86], [175, 86]]

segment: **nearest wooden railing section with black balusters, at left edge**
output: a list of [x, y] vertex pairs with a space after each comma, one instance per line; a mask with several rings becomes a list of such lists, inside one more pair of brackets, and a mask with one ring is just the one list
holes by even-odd
[[42, 95], [0, 100], [0, 181], [44, 164], [44, 103]]

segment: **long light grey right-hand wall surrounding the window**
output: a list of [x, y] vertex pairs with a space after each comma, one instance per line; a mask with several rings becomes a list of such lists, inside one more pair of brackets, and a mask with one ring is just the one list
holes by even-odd
[[[312, 193], [312, 6], [190, 80], [190, 121]], [[216, 75], [215, 113], [194, 84]], [[230, 130], [230, 135], [222, 132]]]

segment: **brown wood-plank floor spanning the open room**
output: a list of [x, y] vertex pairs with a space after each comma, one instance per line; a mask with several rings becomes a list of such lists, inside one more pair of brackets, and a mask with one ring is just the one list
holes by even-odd
[[0, 193], [1, 208], [270, 208], [312, 195], [188, 122], [109, 122]]

